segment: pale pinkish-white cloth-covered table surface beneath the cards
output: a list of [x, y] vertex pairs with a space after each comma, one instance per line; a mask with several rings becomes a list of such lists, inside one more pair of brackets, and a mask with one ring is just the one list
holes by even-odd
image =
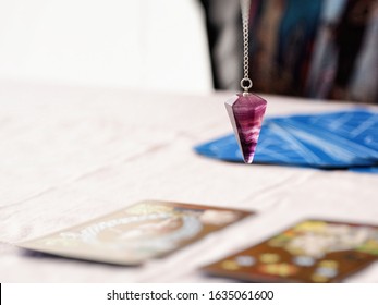
[[[378, 176], [207, 159], [193, 146], [231, 132], [209, 96], [0, 82], [0, 282], [220, 282], [198, 267], [320, 217], [377, 223]], [[268, 115], [351, 105], [265, 96]], [[141, 268], [33, 257], [15, 243], [143, 199], [254, 210]], [[346, 279], [378, 282], [378, 263]]]

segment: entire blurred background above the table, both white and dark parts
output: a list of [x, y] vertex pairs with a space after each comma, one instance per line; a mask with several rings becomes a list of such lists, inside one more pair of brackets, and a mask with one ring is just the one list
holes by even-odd
[[[252, 0], [255, 90], [378, 103], [377, 0]], [[239, 0], [0, 0], [0, 78], [210, 93], [242, 75]]]

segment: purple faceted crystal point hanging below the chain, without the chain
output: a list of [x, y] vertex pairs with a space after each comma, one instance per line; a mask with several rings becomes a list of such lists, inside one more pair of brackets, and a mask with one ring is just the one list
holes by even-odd
[[267, 101], [259, 96], [244, 93], [225, 102], [245, 163], [252, 163], [260, 134]]

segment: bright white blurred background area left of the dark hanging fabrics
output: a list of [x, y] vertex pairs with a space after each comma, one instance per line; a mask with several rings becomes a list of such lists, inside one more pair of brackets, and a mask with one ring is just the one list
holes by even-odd
[[207, 93], [196, 0], [0, 0], [0, 77]]

